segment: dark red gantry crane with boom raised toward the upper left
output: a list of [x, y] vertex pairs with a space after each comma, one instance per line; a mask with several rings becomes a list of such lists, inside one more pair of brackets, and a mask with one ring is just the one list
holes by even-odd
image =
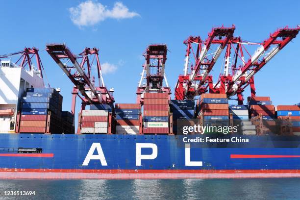
[[[76, 56], [65, 44], [48, 44], [46, 47], [53, 60], [74, 84], [72, 114], [75, 114], [77, 96], [82, 100], [81, 110], [85, 109], [85, 106], [88, 104], [112, 104], [114, 102], [113, 90], [108, 91], [104, 85], [99, 61], [99, 49], [85, 48], [83, 52]], [[92, 60], [89, 58], [91, 55], [94, 55]], [[95, 77], [91, 76], [91, 67], [95, 58], [99, 86], [95, 86]], [[63, 63], [64, 59], [66, 59], [66, 62]], [[81, 61], [79, 62], [80, 59]]]

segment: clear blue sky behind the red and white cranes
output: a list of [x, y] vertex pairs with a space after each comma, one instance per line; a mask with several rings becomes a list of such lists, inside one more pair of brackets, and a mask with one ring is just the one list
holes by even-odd
[[[262, 41], [278, 27], [300, 24], [300, 2], [296, 0], [289, 3], [123, 0], [121, 10], [115, 11], [115, 1], [99, 0], [93, 3], [103, 12], [101, 15], [88, 12], [81, 21], [74, 17], [72, 21], [72, 13], [76, 14], [82, 2], [85, 1], [1, 2], [0, 54], [24, 47], [39, 48], [50, 85], [61, 88], [64, 110], [70, 110], [73, 85], [44, 50], [46, 43], [65, 42], [74, 53], [85, 47], [100, 48], [100, 62], [116, 67], [114, 72], [104, 75], [105, 84], [115, 89], [116, 102], [129, 103], [136, 100], [144, 63], [141, 55], [149, 44], [168, 45], [171, 52], [167, 56], [166, 74], [174, 93], [177, 77], [183, 73], [185, 45], [182, 42], [189, 35], [205, 39], [213, 26], [235, 24], [236, 36]], [[255, 75], [257, 96], [271, 96], [275, 105], [300, 102], [300, 35], [298, 37]], [[216, 72], [220, 71], [220, 65], [216, 64]], [[246, 91], [245, 97], [248, 96], [250, 93]]]

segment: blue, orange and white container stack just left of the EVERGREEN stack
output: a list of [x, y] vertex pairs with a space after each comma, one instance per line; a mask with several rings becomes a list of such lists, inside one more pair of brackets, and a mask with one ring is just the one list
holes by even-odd
[[135, 103], [116, 104], [116, 134], [139, 134], [141, 105]]

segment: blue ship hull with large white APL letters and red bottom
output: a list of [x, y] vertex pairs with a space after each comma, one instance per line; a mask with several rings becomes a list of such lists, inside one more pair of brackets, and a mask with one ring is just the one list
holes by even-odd
[[[188, 145], [182, 142], [184, 137], [0, 134], [0, 177], [300, 177], [299, 136], [192, 135], [189, 138], [230, 142]], [[232, 142], [232, 138], [249, 142]], [[20, 151], [32, 149], [39, 152]]]

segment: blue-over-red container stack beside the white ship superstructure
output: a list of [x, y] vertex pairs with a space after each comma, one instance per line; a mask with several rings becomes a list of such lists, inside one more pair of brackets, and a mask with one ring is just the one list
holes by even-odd
[[54, 88], [27, 88], [21, 101], [19, 132], [74, 133], [74, 116], [62, 118], [62, 100]]

